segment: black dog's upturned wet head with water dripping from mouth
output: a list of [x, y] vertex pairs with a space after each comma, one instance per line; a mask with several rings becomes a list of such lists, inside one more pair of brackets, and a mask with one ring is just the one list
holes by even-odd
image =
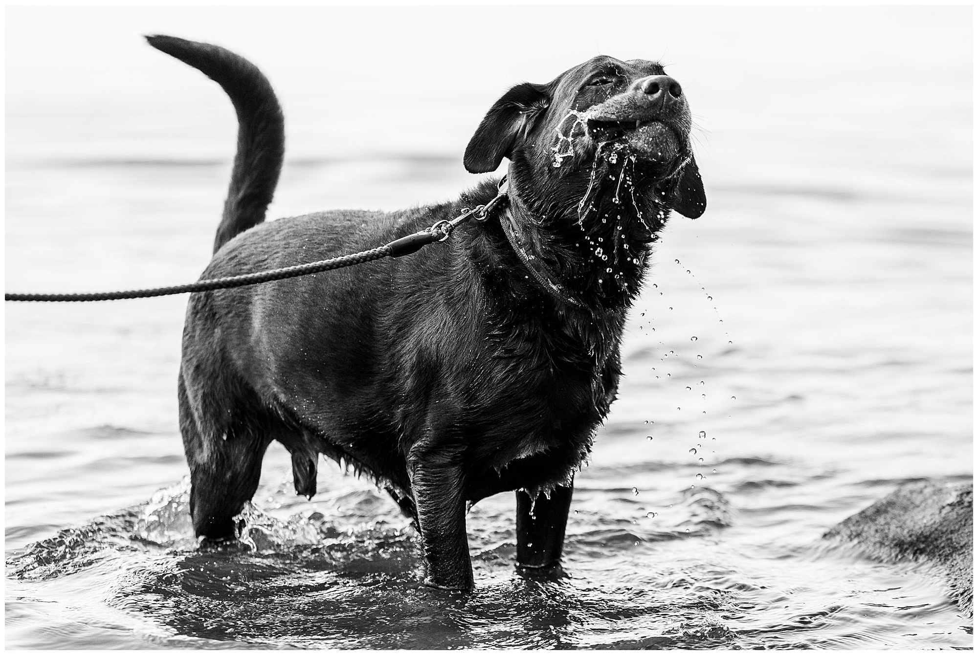
[[574, 208], [586, 221], [606, 216], [607, 203], [618, 213], [631, 205], [654, 233], [669, 209], [696, 218], [706, 208], [690, 126], [686, 92], [662, 66], [596, 57], [549, 84], [512, 87], [475, 131], [465, 164], [485, 173], [508, 157], [540, 211]]

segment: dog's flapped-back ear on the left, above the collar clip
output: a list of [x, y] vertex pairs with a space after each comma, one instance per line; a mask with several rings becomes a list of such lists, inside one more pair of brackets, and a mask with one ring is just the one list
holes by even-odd
[[512, 156], [516, 138], [550, 106], [550, 87], [524, 82], [512, 87], [489, 109], [466, 148], [469, 173], [489, 173]]

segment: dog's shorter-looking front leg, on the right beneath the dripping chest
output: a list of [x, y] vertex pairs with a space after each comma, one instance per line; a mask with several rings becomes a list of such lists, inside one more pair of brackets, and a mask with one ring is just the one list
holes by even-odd
[[556, 487], [550, 498], [540, 494], [535, 501], [523, 490], [516, 492], [517, 566], [541, 569], [560, 563], [573, 485]]

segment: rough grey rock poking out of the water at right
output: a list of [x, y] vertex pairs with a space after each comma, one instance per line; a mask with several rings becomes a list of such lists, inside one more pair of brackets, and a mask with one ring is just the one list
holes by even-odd
[[824, 534], [883, 561], [925, 560], [944, 569], [957, 606], [972, 616], [972, 485], [925, 480], [901, 486]]

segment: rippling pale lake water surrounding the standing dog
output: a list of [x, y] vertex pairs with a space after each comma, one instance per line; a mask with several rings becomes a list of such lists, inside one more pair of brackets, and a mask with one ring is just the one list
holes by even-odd
[[467, 594], [420, 585], [366, 481], [325, 463], [295, 497], [277, 445], [252, 548], [196, 552], [186, 297], [7, 303], [8, 648], [971, 646], [927, 565], [822, 540], [904, 481], [971, 479], [969, 7], [8, 8], [8, 291], [200, 274], [233, 112], [154, 32], [272, 79], [272, 217], [457, 194], [492, 102], [598, 53], [683, 83], [709, 207], [657, 245], [568, 576], [514, 572], [506, 494], [469, 514]]

